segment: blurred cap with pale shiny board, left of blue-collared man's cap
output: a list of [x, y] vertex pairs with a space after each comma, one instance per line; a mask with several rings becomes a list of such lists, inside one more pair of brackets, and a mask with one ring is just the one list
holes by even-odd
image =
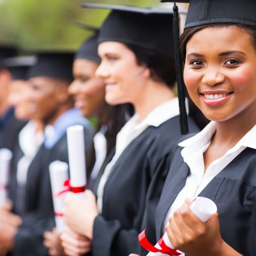
[[12, 80], [27, 80], [28, 70], [35, 63], [35, 56], [11, 57], [1, 59], [0, 68], [7, 68], [12, 74]]

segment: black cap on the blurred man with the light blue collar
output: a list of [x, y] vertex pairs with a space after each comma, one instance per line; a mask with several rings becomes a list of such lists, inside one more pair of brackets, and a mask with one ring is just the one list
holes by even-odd
[[29, 69], [28, 78], [45, 76], [73, 80], [71, 52], [50, 51], [37, 54], [37, 62]]

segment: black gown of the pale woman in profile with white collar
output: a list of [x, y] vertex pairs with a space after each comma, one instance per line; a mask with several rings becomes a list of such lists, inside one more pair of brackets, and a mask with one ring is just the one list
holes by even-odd
[[[189, 118], [190, 131], [199, 131]], [[123, 151], [104, 186], [103, 210], [94, 220], [92, 255], [127, 256], [138, 247], [148, 186], [181, 137], [179, 116], [149, 126]], [[167, 154], [168, 152], [168, 154]], [[100, 178], [100, 177], [99, 177]], [[97, 190], [96, 183], [94, 193]]]

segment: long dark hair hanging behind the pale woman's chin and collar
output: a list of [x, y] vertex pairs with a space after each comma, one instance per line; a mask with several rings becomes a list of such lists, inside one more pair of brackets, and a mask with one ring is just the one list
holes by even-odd
[[[106, 105], [106, 107], [107, 107], [105, 112], [106, 116], [104, 118], [105, 122], [104, 124], [99, 123], [95, 131], [95, 134], [96, 134], [101, 130], [102, 125], [106, 125], [105, 137], [107, 141], [107, 152], [106, 152], [106, 158], [102, 166], [106, 164], [108, 156], [111, 154], [112, 150], [115, 147], [117, 134], [119, 133], [121, 128], [124, 126], [124, 124], [130, 119], [130, 117], [134, 115], [134, 108], [129, 103], [115, 105], [115, 106]], [[95, 150], [94, 150], [94, 143], [92, 140], [86, 152], [86, 172], [87, 172], [88, 180], [91, 175], [94, 163], [95, 163]]]

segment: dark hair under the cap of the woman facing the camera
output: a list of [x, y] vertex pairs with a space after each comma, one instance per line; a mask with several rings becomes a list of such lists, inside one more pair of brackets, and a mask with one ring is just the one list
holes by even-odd
[[193, 28], [187, 28], [184, 30], [183, 34], [181, 35], [179, 41], [180, 45], [180, 52], [182, 55], [183, 60], [186, 58], [186, 45], [187, 42], [190, 40], [190, 38], [195, 35], [198, 31], [204, 29], [204, 28], [216, 28], [216, 27], [230, 27], [230, 26], [237, 26], [241, 29], [244, 29], [248, 36], [251, 39], [252, 45], [256, 49], [256, 27], [251, 27], [243, 24], [236, 24], [236, 23], [217, 23], [217, 24], [208, 24], [208, 25], [202, 25], [198, 27]]

